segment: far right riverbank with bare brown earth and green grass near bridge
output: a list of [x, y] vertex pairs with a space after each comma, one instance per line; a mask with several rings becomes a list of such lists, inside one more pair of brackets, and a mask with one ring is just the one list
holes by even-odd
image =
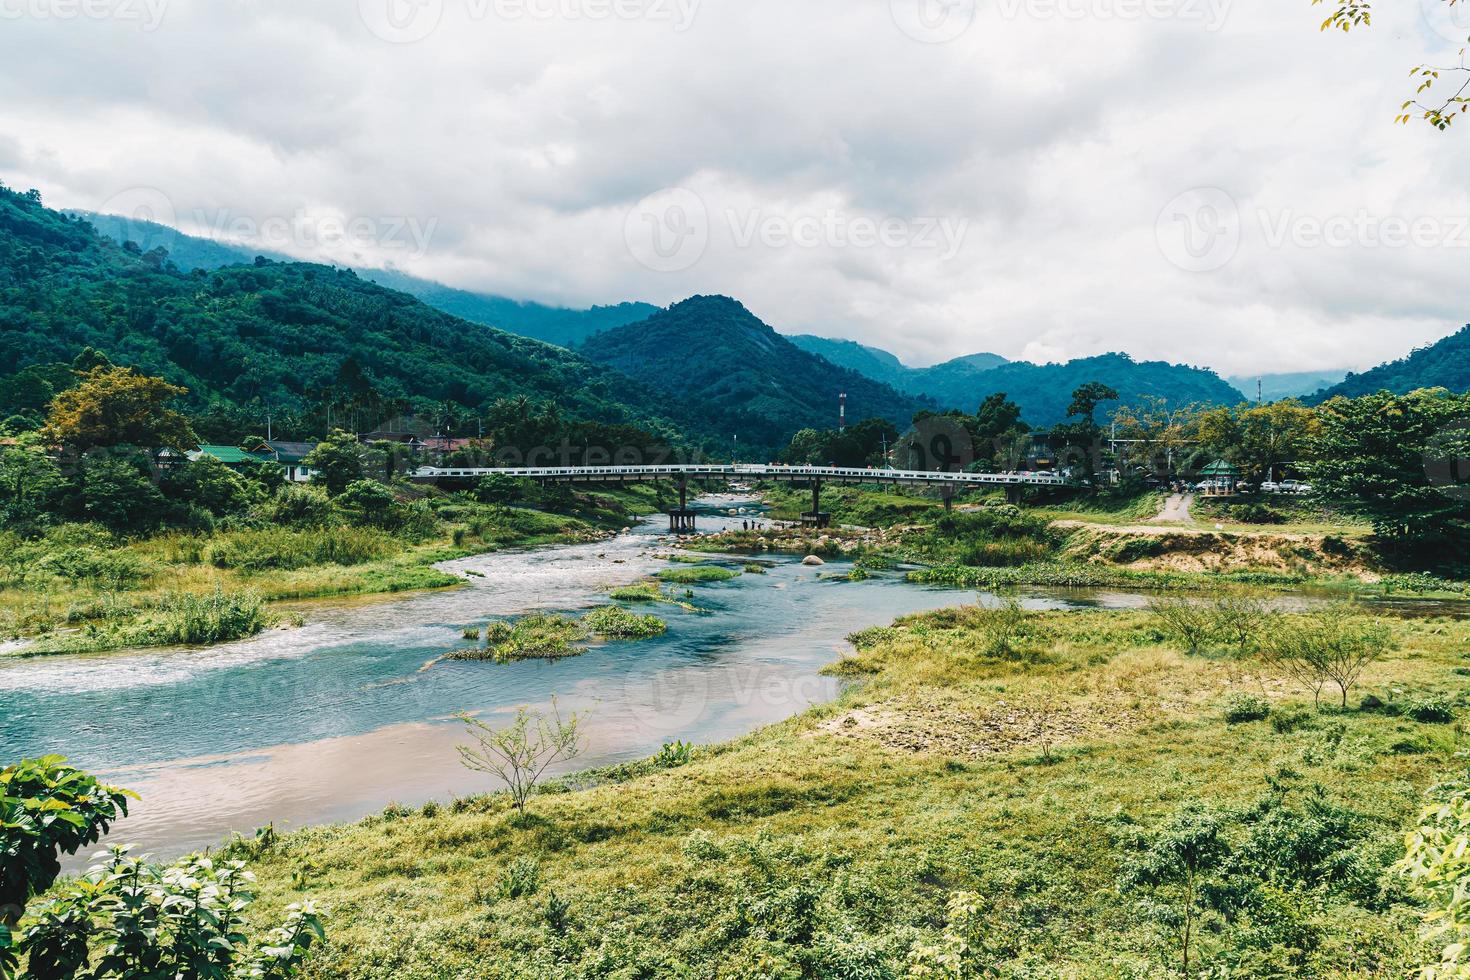
[[[1197, 591], [1227, 583], [1369, 598], [1470, 598], [1470, 583], [1385, 567], [1370, 547], [1367, 529], [1324, 525], [1330, 516], [1322, 513], [1299, 513], [1297, 523], [1280, 526], [1201, 520], [1164, 525], [1144, 517], [1157, 513], [1163, 500], [1158, 494], [1085, 498], [1070, 508], [1017, 508], [976, 494], [945, 511], [938, 500], [844, 486], [823, 492], [823, 507], [829, 507], [835, 526], [811, 530], [792, 523], [803, 507], [800, 494], [766, 494], [770, 522], [754, 530], [694, 538], [685, 547], [847, 557], [876, 567], [920, 564], [925, 567], [910, 573], [913, 580], [967, 589], [1032, 585]], [[1210, 508], [1198, 510], [1204, 514]]]

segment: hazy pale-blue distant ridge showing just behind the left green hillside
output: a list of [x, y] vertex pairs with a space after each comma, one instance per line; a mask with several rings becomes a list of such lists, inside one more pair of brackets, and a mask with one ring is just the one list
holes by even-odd
[[[118, 217], [115, 215], [96, 215], [91, 212], [69, 213], [85, 217], [97, 231], [118, 244], [134, 241], [143, 251], [163, 248], [169, 253], [169, 262], [184, 272], [194, 269], [213, 270], [223, 266], [248, 266], [254, 263], [259, 254], [265, 254], [266, 259], [276, 262], [295, 262], [290, 256], [279, 253], [262, 253], [257, 248], [185, 235], [178, 229], [154, 222]], [[412, 297], [423, 300], [434, 309], [444, 310], [460, 319], [560, 347], [572, 347], [598, 331], [642, 320], [659, 311], [659, 307], [648, 303], [619, 303], [617, 306], [594, 306], [589, 310], [569, 310], [456, 289], [441, 282], [419, 279], [417, 276], [392, 269], [354, 269], [354, 272], [363, 279], [385, 285], [390, 289], [407, 292]]]

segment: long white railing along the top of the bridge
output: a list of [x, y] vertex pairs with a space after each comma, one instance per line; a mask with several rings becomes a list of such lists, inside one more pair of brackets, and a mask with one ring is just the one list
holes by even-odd
[[598, 479], [672, 479], [672, 478], [750, 478], [775, 480], [839, 480], [850, 483], [931, 483], [948, 486], [1028, 485], [1066, 486], [1061, 476], [1039, 473], [939, 473], [929, 470], [875, 470], [845, 466], [772, 466], [764, 463], [714, 463], [685, 466], [531, 466], [462, 467], [425, 466], [410, 475], [419, 480], [473, 479], [478, 476], [514, 476], [538, 480]]

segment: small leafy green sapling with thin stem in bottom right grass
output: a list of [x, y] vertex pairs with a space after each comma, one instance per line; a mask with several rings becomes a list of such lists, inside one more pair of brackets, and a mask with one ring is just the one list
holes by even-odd
[[1230, 858], [1225, 817], [1189, 802], [1139, 845], [1125, 862], [1119, 886], [1148, 896], [1151, 918], [1177, 942], [1180, 971], [1188, 974], [1201, 920], [1220, 911], [1225, 889], [1217, 886]]

